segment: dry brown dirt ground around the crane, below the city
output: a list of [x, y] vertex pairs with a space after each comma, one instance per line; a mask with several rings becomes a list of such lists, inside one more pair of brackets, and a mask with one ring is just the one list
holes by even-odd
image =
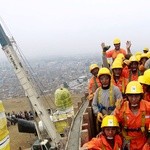
[[[72, 95], [74, 107], [77, 107], [77, 103], [81, 101], [81, 97], [83, 97], [83, 95]], [[51, 100], [46, 98], [43, 100], [43, 105], [45, 106], [45, 108], [48, 108], [48, 106], [50, 106], [51, 108], [55, 108], [52, 99], [53, 98], [51, 98]], [[3, 104], [7, 113], [11, 113], [12, 111], [19, 112], [31, 110], [27, 98], [3, 100]], [[8, 130], [10, 132], [11, 150], [24, 150], [30, 148], [35, 139], [37, 138], [34, 134], [19, 133], [17, 124], [10, 125], [8, 127]]]

